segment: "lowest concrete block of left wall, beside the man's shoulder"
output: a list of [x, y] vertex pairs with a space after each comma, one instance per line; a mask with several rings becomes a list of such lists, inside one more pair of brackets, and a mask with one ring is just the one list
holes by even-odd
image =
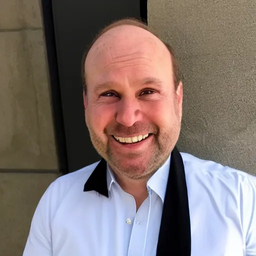
[[57, 174], [0, 173], [0, 255], [22, 255], [40, 197]]

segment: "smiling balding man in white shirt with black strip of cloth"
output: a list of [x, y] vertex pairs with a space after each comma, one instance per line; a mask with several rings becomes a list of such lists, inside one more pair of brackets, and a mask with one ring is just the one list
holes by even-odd
[[83, 61], [85, 120], [102, 156], [55, 180], [24, 256], [255, 256], [248, 174], [175, 148], [182, 82], [171, 48], [139, 21], [104, 28]]

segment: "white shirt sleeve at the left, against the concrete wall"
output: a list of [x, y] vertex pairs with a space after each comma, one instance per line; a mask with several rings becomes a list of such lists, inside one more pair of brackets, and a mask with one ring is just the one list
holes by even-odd
[[23, 256], [52, 256], [49, 206], [48, 187], [35, 209]]

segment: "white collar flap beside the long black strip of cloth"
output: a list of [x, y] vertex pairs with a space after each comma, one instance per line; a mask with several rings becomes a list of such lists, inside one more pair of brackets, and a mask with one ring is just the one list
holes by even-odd
[[163, 165], [147, 181], [147, 185], [160, 196], [162, 202], [164, 201], [165, 197], [169, 168], [170, 155]]

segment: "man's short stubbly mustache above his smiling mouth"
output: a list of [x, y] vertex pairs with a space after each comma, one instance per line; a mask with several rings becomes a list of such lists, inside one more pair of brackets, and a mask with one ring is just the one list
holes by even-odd
[[132, 126], [127, 127], [120, 123], [115, 125], [108, 125], [105, 127], [104, 132], [109, 135], [131, 136], [133, 134], [147, 134], [158, 132], [158, 127], [154, 123], [147, 123], [137, 121]]

